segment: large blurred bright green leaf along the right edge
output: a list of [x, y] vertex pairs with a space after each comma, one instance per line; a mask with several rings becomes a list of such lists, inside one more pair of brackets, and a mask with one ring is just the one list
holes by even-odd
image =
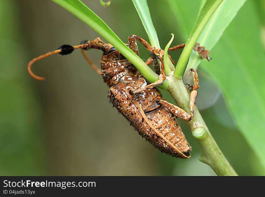
[[[184, 9], [179, 14], [188, 15]], [[179, 26], [188, 29], [191, 25], [184, 20]], [[265, 166], [265, 53], [259, 30], [254, 2], [246, 1], [210, 51], [210, 64], [201, 64], [221, 87], [237, 127]]]

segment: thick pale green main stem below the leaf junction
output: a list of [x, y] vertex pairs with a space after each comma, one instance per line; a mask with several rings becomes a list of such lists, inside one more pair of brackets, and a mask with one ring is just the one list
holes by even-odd
[[[190, 112], [190, 94], [183, 84], [181, 77], [175, 78], [173, 76], [167, 76], [167, 79], [169, 81], [167, 91], [169, 91], [179, 107], [184, 109], [186, 112]], [[237, 176], [235, 170], [226, 160], [217, 143], [214, 141], [213, 136], [207, 128], [196, 106], [194, 113], [194, 118], [188, 124], [192, 130], [193, 136], [197, 139], [198, 144], [201, 146], [202, 153], [200, 161], [208, 164], [219, 176]], [[201, 133], [199, 136], [198, 130], [200, 130], [199, 133]]]

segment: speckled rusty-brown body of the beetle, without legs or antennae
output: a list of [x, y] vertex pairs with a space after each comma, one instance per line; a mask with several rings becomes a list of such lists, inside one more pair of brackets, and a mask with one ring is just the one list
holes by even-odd
[[152, 88], [139, 94], [129, 94], [137, 79], [145, 81], [136, 74], [136, 67], [116, 50], [102, 56], [101, 68], [104, 82], [110, 87], [108, 95], [111, 102], [139, 134], [164, 153], [189, 158], [191, 147], [176, 117], [157, 104], [158, 100], [164, 100], [160, 92]]

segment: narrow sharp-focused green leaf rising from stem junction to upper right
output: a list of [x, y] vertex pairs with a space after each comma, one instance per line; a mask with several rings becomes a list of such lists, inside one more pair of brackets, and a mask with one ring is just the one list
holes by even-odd
[[201, 12], [198, 16], [198, 19], [192, 29], [190, 37], [186, 42], [186, 46], [179, 57], [179, 61], [174, 71], [174, 76], [176, 78], [181, 77], [183, 75], [184, 70], [186, 68], [186, 64], [189, 60], [190, 54], [192, 52], [192, 49], [196, 41], [198, 40], [199, 36], [201, 35], [201, 32], [203, 31], [207, 22], [210, 20], [214, 11], [222, 3], [222, 1], [223, 0], [206, 0], [205, 1], [203, 7], [201, 8]]

